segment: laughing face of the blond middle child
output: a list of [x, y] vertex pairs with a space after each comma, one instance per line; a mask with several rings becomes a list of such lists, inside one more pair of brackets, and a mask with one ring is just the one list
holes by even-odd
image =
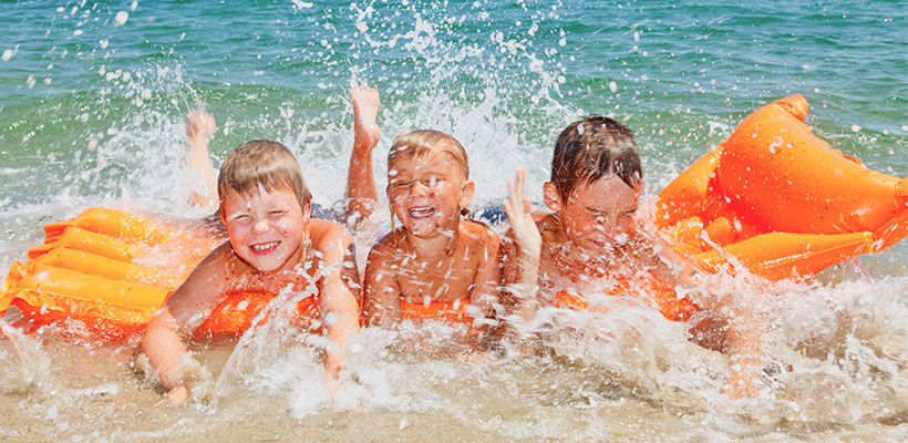
[[461, 208], [473, 198], [473, 182], [465, 181], [457, 163], [443, 152], [394, 162], [388, 198], [394, 215], [417, 237], [451, 235]]

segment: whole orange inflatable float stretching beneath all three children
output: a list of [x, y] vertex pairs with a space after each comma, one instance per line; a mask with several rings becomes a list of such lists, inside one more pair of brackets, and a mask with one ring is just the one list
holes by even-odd
[[[807, 102], [793, 95], [755, 111], [731, 136], [658, 196], [656, 225], [682, 255], [711, 272], [742, 267], [771, 280], [805, 278], [829, 265], [881, 251], [908, 235], [908, 179], [867, 169], [832, 150], [803, 123]], [[93, 208], [48, 225], [45, 244], [14, 262], [0, 291], [0, 316], [14, 305], [33, 326], [82, 321], [94, 337], [140, 333], [168, 293], [219, 239], [178, 231], [143, 217]], [[652, 281], [651, 281], [652, 280]], [[653, 278], [648, 302], [673, 320], [697, 307]], [[646, 289], [648, 288], [648, 289]], [[230, 295], [196, 334], [235, 334], [274, 295]], [[556, 305], [584, 309], [567, 292]], [[402, 303], [404, 318], [471, 321], [467, 302]], [[314, 297], [297, 322], [317, 328]]]

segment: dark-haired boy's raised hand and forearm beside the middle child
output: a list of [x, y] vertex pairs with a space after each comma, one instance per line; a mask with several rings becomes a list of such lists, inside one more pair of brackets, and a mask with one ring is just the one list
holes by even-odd
[[530, 214], [530, 203], [524, 198], [526, 171], [517, 169], [515, 178], [507, 179], [508, 199], [505, 212], [510, 222], [507, 241], [502, 247], [503, 279], [508, 305], [524, 321], [533, 320], [538, 300], [539, 255], [543, 238]]

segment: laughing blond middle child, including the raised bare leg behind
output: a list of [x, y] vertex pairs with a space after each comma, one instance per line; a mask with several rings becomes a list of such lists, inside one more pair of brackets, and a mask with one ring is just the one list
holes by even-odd
[[[369, 153], [380, 134], [374, 124], [378, 92], [362, 87], [351, 97], [358, 164], [351, 157], [348, 194], [361, 202], [375, 202], [371, 168], [364, 165], [371, 167]], [[358, 178], [354, 169], [360, 171]], [[474, 192], [468, 177], [466, 152], [445, 133], [413, 131], [391, 146], [386, 192], [392, 216], [402, 226], [392, 229], [369, 254], [363, 282], [367, 323], [406, 318], [463, 321], [492, 313], [499, 279], [495, 261], [498, 237], [465, 217]], [[373, 206], [357, 207], [361, 217], [369, 217]]]

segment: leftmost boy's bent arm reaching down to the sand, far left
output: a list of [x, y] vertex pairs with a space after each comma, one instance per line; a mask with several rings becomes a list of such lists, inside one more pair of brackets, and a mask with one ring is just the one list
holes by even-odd
[[180, 336], [198, 327], [217, 305], [220, 288], [227, 281], [229, 254], [230, 244], [225, 243], [205, 257], [152, 318], [142, 338], [142, 351], [174, 403], [189, 393], [180, 367], [187, 352]]

